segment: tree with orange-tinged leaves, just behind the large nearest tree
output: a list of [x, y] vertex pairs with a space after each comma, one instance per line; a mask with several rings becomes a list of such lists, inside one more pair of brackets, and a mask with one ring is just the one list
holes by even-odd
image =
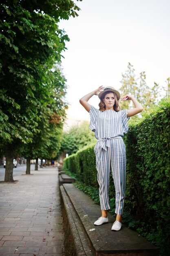
[[[66, 79], [62, 76], [61, 68], [57, 66], [53, 69], [53, 75], [51, 97], [44, 99], [46, 105], [38, 113], [38, 133], [34, 134], [29, 144], [22, 147], [22, 154], [27, 158], [26, 174], [30, 174], [32, 158], [51, 159], [56, 157], [60, 149], [65, 110], [68, 108], [64, 100]], [[35, 167], [38, 170], [38, 164]]]

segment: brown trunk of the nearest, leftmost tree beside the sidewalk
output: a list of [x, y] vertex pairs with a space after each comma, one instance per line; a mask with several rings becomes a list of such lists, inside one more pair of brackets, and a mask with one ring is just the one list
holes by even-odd
[[13, 180], [13, 151], [10, 148], [6, 151], [6, 166], [5, 166], [5, 182], [14, 182]]

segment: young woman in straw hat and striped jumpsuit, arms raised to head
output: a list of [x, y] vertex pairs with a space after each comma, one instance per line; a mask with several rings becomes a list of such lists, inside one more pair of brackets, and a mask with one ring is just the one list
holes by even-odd
[[[98, 95], [100, 99], [99, 110], [88, 103], [93, 95]], [[121, 101], [132, 100], [134, 108], [121, 110], [119, 99]], [[102, 216], [95, 221], [94, 225], [102, 225], [108, 222], [107, 211], [110, 209], [108, 184], [111, 169], [116, 194], [116, 220], [113, 223], [112, 230], [119, 231], [121, 229], [126, 185], [126, 148], [123, 136], [128, 131], [128, 119], [140, 113], [143, 108], [130, 94], [120, 98], [120, 93], [113, 87], [104, 88], [100, 86], [79, 101], [90, 113], [90, 128], [95, 132], [97, 139], [94, 150]]]

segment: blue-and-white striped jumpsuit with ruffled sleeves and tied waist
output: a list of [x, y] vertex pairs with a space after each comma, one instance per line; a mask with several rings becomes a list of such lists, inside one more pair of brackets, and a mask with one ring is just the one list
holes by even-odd
[[90, 128], [97, 139], [94, 150], [101, 209], [110, 209], [108, 185], [111, 169], [116, 193], [115, 213], [122, 215], [126, 186], [126, 147], [123, 136], [128, 131], [127, 110], [102, 112], [91, 106], [90, 117]]

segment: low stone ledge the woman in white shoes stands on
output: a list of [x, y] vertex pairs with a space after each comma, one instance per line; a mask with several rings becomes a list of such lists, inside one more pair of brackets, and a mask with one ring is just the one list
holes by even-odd
[[[64, 221], [68, 221], [71, 227], [73, 222], [75, 226], [78, 225], [77, 230], [82, 237], [79, 236], [79, 243], [74, 243], [74, 247], [80, 244], [82, 240], [88, 242], [88, 250], [91, 248], [93, 254], [88, 254], [86, 249], [85, 254], [77, 254], [77, 249], [74, 248], [75, 254], [70, 255], [95, 255], [95, 256], [157, 256], [158, 252], [155, 246], [150, 244], [142, 236], [139, 236], [137, 232], [128, 229], [123, 225], [121, 231], [114, 232], [111, 231], [112, 223], [114, 222], [113, 216], [108, 213], [109, 223], [102, 226], [94, 226], [94, 220], [97, 219], [97, 214], [100, 212], [99, 205], [94, 204], [94, 202], [88, 198], [88, 196], [76, 189], [73, 184], [63, 184], [60, 186], [60, 191], [62, 194], [62, 200], [64, 211]], [[64, 197], [64, 198], [63, 198]], [[70, 208], [68, 210], [68, 208]], [[71, 212], [71, 214], [70, 214]], [[76, 236], [75, 229], [69, 229], [64, 225], [64, 231], [66, 239], [70, 236]], [[68, 240], [65, 240], [65, 246], [68, 247]], [[80, 252], [81, 250], [78, 249]], [[73, 253], [73, 252], [72, 252]]]

